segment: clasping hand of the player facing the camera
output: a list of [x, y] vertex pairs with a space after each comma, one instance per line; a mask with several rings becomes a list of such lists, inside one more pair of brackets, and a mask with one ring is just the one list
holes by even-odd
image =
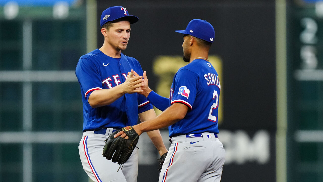
[[[131, 70], [131, 74], [134, 74], [135, 72]], [[141, 93], [143, 92], [142, 89], [138, 89], [142, 86], [144, 86], [144, 79], [142, 79], [142, 76], [132, 76], [130, 75], [127, 77], [126, 81], [123, 82], [121, 85], [123, 87], [123, 93], [133, 94], [133, 93]]]

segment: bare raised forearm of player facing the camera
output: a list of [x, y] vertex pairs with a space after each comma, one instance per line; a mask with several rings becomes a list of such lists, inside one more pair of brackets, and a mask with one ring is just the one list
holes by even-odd
[[92, 108], [106, 106], [116, 101], [125, 93], [120, 89], [120, 85], [109, 89], [94, 90], [89, 96], [89, 104]]

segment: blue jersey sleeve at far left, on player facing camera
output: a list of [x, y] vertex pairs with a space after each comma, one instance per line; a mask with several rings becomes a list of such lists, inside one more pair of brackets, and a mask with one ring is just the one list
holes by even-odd
[[94, 90], [103, 89], [99, 71], [90, 60], [81, 58], [76, 66], [75, 74], [86, 99], [89, 99]]

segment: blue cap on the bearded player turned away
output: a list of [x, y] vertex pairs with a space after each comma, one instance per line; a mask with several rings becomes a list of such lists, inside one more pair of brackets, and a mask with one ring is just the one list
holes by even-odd
[[215, 36], [213, 26], [206, 20], [201, 19], [193, 19], [188, 23], [185, 30], [175, 30], [175, 32], [189, 34], [211, 43]]

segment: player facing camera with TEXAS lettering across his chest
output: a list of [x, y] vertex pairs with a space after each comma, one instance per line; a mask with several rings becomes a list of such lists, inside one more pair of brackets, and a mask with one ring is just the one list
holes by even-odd
[[[83, 136], [79, 155], [83, 169], [93, 181], [136, 182], [138, 151], [131, 154], [121, 170], [102, 156], [109, 134], [128, 125], [156, 117], [151, 103], [138, 93], [144, 85], [142, 76], [131, 77], [134, 71], [143, 74], [140, 63], [121, 53], [130, 37], [130, 24], [138, 17], [129, 15], [126, 8], [113, 6], [104, 10], [100, 18], [103, 46], [80, 57], [76, 76], [83, 101]], [[159, 151], [167, 149], [159, 130], [148, 133]]]

